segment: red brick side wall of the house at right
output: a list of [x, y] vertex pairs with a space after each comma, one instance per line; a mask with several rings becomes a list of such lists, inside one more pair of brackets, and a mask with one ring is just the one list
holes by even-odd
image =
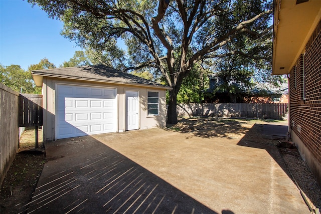
[[289, 80], [291, 137], [321, 186], [321, 21]]

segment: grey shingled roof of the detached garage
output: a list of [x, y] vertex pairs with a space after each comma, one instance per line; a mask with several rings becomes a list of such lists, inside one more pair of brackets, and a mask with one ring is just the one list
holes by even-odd
[[107, 66], [81, 66], [70, 68], [55, 68], [35, 70], [31, 72], [38, 87], [42, 86], [43, 77], [64, 78], [72, 80], [86, 80], [124, 85], [143, 85], [144, 87], [172, 89], [171, 87], [121, 72]]

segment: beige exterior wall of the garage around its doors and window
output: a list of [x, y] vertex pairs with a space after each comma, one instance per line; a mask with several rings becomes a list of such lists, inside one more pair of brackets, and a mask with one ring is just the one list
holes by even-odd
[[[44, 128], [43, 139], [44, 141], [52, 141], [56, 139], [56, 84], [72, 84], [81, 86], [95, 86], [95, 87], [110, 87], [116, 88], [116, 103], [117, 103], [117, 127], [116, 132], [123, 132], [126, 130], [126, 91], [138, 91], [139, 97], [139, 126], [138, 129], [147, 129], [152, 127], [166, 126], [166, 90], [141, 87], [141, 86], [128, 86], [120, 84], [106, 84], [94, 83], [88, 81], [71, 81], [64, 79], [43, 78], [43, 108], [44, 108]], [[159, 92], [159, 115], [147, 115], [147, 92]]]

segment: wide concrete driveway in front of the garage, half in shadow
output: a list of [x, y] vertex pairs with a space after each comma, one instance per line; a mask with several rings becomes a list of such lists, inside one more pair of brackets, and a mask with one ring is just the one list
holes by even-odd
[[149, 129], [46, 143], [29, 213], [309, 213], [276, 147]]

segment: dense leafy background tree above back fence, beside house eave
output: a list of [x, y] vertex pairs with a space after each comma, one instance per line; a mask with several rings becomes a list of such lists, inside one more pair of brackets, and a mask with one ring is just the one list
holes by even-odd
[[252, 57], [228, 55], [206, 63], [207, 68], [210, 68], [219, 78], [220, 85], [217, 86], [216, 91], [227, 92], [230, 102], [236, 102], [237, 94], [244, 93], [246, 89], [279, 88], [286, 82], [283, 76], [271, 76], [272, 31], [256, 40], [250, 40], [247, 37], [247, 35], [236, 37], [235, 43], [226, 45], [225, 49], [231, 52], [236, 50], [236, 46], [243, 47], [243, 50], [250, 53]]

